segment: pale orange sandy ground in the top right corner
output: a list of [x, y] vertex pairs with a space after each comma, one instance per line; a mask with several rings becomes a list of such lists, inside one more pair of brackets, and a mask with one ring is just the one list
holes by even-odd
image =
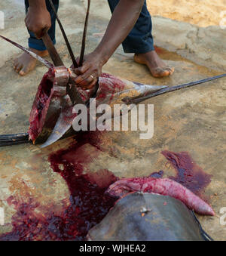
[[[197, 26], [219, 25], [226, 0], [147, 0], [151, 15], [185, 21]], [[226, 15], [224, 15], [225, 17]]]

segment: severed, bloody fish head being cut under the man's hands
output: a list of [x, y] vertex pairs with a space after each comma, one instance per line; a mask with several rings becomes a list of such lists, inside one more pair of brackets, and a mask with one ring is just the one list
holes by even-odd
[[[69, 73], [64, 66], [50, 68], [38, 86], [29, 118], [29, 140], [43, 143], [41, 147], [47, 147], [72, 132], [72, 122], [77, 114], [73, 113], [74, 106], [66, 92]], [[108, 104], [112, 108], [115, 104], [124, 104], [124, 100], [142, 98], [165, 87], [143, 85], [102, 73], [95, 93], [96, 107]], [[78, 91], [88, 107], [90, 100], [94, 99], [93, 91]]]

